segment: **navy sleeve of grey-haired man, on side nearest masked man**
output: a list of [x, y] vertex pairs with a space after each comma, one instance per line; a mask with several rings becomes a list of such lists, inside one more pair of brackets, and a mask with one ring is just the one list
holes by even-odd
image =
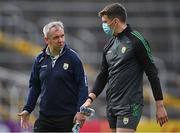
[[79, 88], [79, 97], [78, 97], [78, 106], [77, 106], [77, 111], [79, 112], [80, 107], [85, 102], [88, 96], [88, 83], [87, 83], [87, 77], [84, 74], [84, 68], [82, 62], [80, 61], [79, 58], [76, 61], [76, 63], [77, 64], [75, 66], [75, 80]]

